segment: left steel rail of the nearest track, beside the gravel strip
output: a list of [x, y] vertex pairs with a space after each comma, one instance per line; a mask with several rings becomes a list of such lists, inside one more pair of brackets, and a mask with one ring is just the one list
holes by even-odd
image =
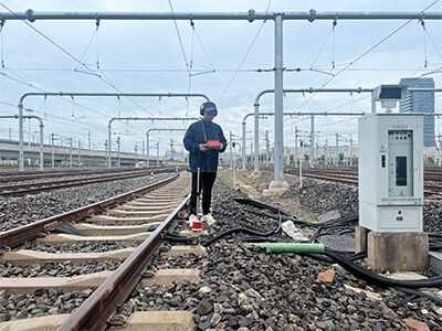
[[27, 224], [17, 228], [12, 228], [6, 232], [0, 233], [0, 245], [3, 246], [9, 246], [9, 247], [15, 247], [27, 241], [36, 238], [39, 234], [44, 232], [46, 228], [54, 227], [59, 224], [66, 223], [66, 222], [77, 222], [81, 221], [85, 217], [87, 217], [91, 214], [95, 214], [109, 205], [113, 205], [115, 203], [119, 203], [122, 201], [125, 201], [126, 199], [139, 194], [141, 192], [146, 191], [151, 191], [156, 188], [162, 186], [165, 184], [168, 184], [169, 182], [176, 180], [178, 178], [178, 174], [175, 174], [168, 179], [165, 179], [158, 183], [154, 183], [140, 189], [133, 190], [130, 192], [126, 192], [99, 202], [95, 202], [82, 207], [78, 207], [76, 210], [65, 212], [55, 216], [51, 216], [48, 218], [43, 218], [40, 221], [36, 221], [31, 224]]

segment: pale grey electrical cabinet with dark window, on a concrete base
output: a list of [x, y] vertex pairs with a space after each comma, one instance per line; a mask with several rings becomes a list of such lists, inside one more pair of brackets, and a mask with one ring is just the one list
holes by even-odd
[[421, 232], [423, 115], [369, 114], [359, 119], [359, 225]]

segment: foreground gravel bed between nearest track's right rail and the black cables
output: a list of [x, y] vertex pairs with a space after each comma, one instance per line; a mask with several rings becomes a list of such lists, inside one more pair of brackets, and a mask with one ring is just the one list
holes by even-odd
[[[233, 227], [235, 221], [255, 222], [255, 216], [244, 214], [232, 200], [239, 194], [215, 183], [212, 206], [217, 224], [209, 228], [210, 234]], [[263, 228], [274, 225], [272, 221], [261, 223]], [[115, 321], [124, 322], [136, 310], [160, 309], [193, 312], [196, 330], [406, 330], [401, 324], [406, 318], [425, 322], [431, 330], [442, 330], [441, 307], [428, 299], [368, 286], [337, 265], [306, 256], [269, 254], [239, 243], [231, 235], [208, 247], [203, 257], [188, 255], [166, 260], [159, 253], [145, 276], [151, 276], [158, 266], [197, 266], [202, 281], [138, 287], [117, 310]], [[318, 273], [330, 268], [336, 271], [333, 282], [316, 280]], [[376, 292], [382, 300], [344, 285]]]

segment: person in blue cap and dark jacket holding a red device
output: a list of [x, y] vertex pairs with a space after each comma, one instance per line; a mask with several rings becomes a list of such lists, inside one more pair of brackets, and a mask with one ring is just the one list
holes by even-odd
[[[202, 188], [202, 221], [213, 224], [215, 221], [210, 213], [212, 188], [217, 179], [219, 154], [225, 150], [228, 142], [221, 127], [212, 121], [218, 115], [215, 104], [203, 103], [200, 114], [202, 119], [189, 126], [183, 139], [185, 148], [190, 152], [189, 166], [192, 173], [189, 222], [192, 224], [197, 218], [197, 195]], [[200, 168], [200, 188], [197, 188], [198, 168]]]

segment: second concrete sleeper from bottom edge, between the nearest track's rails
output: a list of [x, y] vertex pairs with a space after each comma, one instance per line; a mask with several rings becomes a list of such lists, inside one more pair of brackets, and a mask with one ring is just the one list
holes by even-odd
[[8, 293], [32, 293], [38, 289], [63, 291], [85, 290], [98, 287], [113, 271], [101, 271], [73, 277], [0, 278], [0, 289]]

